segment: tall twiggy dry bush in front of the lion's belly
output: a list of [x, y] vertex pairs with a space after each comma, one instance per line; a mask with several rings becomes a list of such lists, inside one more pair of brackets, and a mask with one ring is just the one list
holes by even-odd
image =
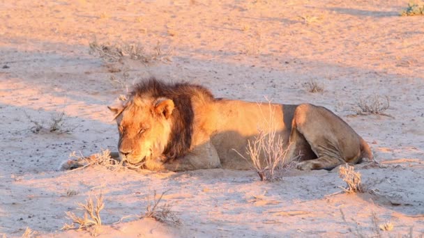
[[270, 115], [264, 117], [268, 124], [268, 130], [258, 129], [259, 135], [252, 141], [248, 141], [247, 159], [243, 154], [234, 150], [243, 159], [252, 161], [252, 169], [257, 172], [261, 181], [273, 182], [282, 180], [289, 170], [296, 168], [298, 157], [289, 158], [290, 145], [285, 147], [283, 139], [277, 135], [277, 129], [274, 124], [275, 110], [271, 102], [268, 101]]

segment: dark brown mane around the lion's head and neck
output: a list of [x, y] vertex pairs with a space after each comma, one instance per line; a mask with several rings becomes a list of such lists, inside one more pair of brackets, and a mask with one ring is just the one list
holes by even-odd
[[130, 97], [159, 98], [167, 97], [174, 101], [172, 128], [168, 144], [163, 154], [169, 159], [176, 159], [190, 152], [193, 133], [194, 111], [192, 100], [213, 101], [212, 93], [199, 85], [190, 83], [169, 84], [150, 78], [136, 84]]

